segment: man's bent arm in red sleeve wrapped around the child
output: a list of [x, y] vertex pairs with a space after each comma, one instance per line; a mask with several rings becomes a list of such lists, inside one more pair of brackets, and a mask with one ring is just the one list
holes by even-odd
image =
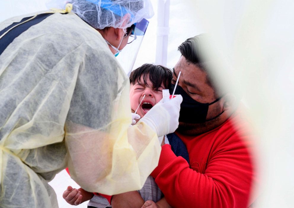
[[204, 174], [176, 157], [170, 145], [162, 146], [159, 165], [151, 175], [172, 207], [247, 207], [250, 155], [241, 141], [232, 140], [218, 149]]

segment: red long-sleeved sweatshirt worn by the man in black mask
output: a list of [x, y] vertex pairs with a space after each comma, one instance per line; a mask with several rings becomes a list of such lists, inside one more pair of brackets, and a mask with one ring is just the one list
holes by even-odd
[[254, 177], [246, 120], [235, 112], [218, 128], [188, 136], [190, 163], [162, 146], [155, 182], [172, 207], [248, 207]]

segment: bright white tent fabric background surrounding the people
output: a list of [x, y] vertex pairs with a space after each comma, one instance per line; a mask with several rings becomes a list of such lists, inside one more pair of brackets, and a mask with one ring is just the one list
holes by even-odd
[[[43, 1], [36, 2], [1, 1], [0, 21], [45, 9]], [[134, 68], [156, 60], [158, 1], [152, 3], [156, 15], [149, 20]], [[215, 39], [215, 47], [242, 83], [240, 91], [244, 92], [244, 101], [259, 130], [258, 150], [263, 155], [263, 163], [259, 165], [264, 186], [258, 207], [294, 207], [293, 7], [290, 0], [170, 1], [167, 67], [172, 68], [178, 61], [178, 45], [189, 37], [209, 32]], [[66, 177], [61, 172], [50, 183], [57, 192], [60, 207], [71, 207], [65, 205], [60, 195], [71, 185], [65, 181]]]

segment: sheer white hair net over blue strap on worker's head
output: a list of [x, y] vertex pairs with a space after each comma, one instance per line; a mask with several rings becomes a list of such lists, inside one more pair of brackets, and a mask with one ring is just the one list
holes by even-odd
[[72, 12], [96, 29], [128, 28], [143, 18], [154, 15], [150, 0], [49, 0], [48, 8], [73, 5]]

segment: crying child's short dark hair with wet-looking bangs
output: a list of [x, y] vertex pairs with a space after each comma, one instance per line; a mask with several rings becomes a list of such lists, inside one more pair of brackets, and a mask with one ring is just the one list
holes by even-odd
[[143, 64], [132, 71], [130, 75], [130, 83], [133, 85], [136, 84], [136, 82], [141, 83], [142, 76], [146, 86], [148, 86], [147, 80], [149, 78], [153, 86], [148, 87], [152, 87], [152, 89], [157, 90], [163, 82], [164, 88], [168, 89], [172, 80], [172, 71], [161, 65]]

